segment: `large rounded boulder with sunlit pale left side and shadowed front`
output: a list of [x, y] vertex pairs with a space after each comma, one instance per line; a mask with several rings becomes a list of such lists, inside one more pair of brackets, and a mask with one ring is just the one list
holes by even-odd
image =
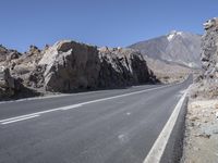
[[46, 90], [68, 92], [98, 85], [100, 64], [96, 47], [63, 40], [46, 50], [39, 65], [46, 66]]

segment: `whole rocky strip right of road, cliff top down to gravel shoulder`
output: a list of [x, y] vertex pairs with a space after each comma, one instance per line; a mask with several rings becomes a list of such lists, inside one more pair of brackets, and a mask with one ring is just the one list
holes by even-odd
[[191, 87], [182, 163], [218, 162], [218, 18], [204, 24], [203, 73]]

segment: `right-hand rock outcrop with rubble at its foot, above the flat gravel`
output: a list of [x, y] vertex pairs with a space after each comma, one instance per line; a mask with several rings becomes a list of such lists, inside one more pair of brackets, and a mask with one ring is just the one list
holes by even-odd
[[197, 77], [193, 88], [193, 97], [218, 97], [218, 18], [204, 24], [205, 34], [202, 37], [203, 74]]

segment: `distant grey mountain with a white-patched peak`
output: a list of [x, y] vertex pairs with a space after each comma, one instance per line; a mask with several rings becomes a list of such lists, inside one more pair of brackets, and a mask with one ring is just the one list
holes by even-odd
[[166, 36], [130, 46], [155, 60], [179, 63], [189, 67], [201, 66], [201, 36], [172, 30]]

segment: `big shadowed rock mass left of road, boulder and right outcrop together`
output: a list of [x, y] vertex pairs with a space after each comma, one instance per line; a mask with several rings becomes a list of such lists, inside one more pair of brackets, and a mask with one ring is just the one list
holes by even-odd
[[155, 82], [145, 60], [134, 50], [97, 49], [71, 40], [48, 48], [38, 66], [46, 67], [39, 78], [48, 91], [69, 92]]

